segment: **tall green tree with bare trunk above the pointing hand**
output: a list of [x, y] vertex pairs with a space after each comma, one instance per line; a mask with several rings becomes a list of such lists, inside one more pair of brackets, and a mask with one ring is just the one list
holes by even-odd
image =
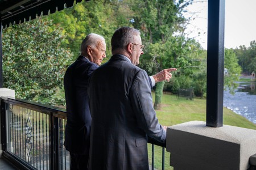
[[[185, 66], [187, 59], [184, 56], [188, 55], [190, 43], [185, 40], [184, 36], [174, 36], [174, 33], [181, 31], [181, 25], [185, 22], [184, 7], [192, 1], [143, 0], [132, 2], [135, 12], [133, 25], [141, 29], [143, 42], [146, 42], [147, 46], [141, 67], [148, 73], [150, 71], [157, 73], [169, 67]], [[145, 62], [146, 59], [149, 62]], [[154, 62], [154, 65], [150, 62]], [[164, 83], [156, 84], [155, 109], [160, 107]]]

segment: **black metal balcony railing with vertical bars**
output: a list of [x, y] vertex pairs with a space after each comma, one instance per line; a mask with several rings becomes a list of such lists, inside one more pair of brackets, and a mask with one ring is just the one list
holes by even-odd
[[[1, 97], [3, 156], [21, 169], [69, 169], [69, 152], [63, 146], [67, 120], [65, 109], [27, 100]], [[155, 145], [162, 147], [162, 169], [166, 144], [149, 138], [154, 169]]]

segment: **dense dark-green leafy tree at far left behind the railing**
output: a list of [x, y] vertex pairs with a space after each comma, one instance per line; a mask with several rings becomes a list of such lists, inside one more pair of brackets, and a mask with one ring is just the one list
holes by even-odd
[[3, 30], [3, 86], [15, 90], [20, 99], [46, 104], [65, 103], [56, 94], [71, 52], [61, 48], [63, 31], [44, 18]]

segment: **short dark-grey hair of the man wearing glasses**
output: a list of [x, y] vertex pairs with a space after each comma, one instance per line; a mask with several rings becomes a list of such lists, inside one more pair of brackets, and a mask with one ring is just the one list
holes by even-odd
[[111, 39], [112, 53], [115, 49], [125, 49], [126, 45], [134, 41], [134, 36], [141, 35], [138, 29], [131, 27], [118, 28]]

